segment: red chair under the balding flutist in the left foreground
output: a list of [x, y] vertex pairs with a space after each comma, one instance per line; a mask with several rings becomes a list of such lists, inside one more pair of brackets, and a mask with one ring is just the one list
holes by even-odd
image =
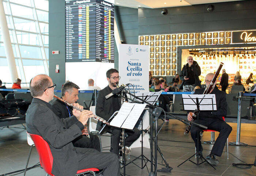
[[[47, 175], [54, 176], [51, 173], [53, 157], [52, 157], [52, 152], [50, 150], [48, 143], [41, 136], [39, 136], [37, 134], [29, 134], [29, 135], [31, 136], [31, 138], [34, 141], [35, 148], [37, 148], [37, 153], [39, 155], [39, 160], [40, 160], [41, 166], [44, 168]], [[99, 171], [99, 169], [97, 169], [97, 168], [83, 169], [83, 170], [77, 171], [76, 175], [91, 173], [92, 175], [95, 176], [96, 171]]]

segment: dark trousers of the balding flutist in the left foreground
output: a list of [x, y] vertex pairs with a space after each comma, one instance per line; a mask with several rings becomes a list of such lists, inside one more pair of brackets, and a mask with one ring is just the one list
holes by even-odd
[[79, 158], [78, 170], [97, 168], [104, 169], [104, 176], [120, 176], [120, 163], [116, 154], [88, 148], [75, 149]]

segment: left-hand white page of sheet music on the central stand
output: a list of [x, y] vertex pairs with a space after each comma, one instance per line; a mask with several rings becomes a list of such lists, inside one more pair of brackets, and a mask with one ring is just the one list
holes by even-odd
[[125, 118], [128, 117], [128, 115], [131, 112], [134, 104], [135, 103], [124, 102], [123, 105], [121, 106], [119, 112], [117, 113], [117, 115], [110, 122], [110, 125], [121, 128], [121, 125], [125, 121]]

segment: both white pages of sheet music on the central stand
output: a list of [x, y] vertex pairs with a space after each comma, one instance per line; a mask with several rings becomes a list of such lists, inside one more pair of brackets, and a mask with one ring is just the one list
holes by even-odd
[[124, 102], [110, 125], [132, 130], [145, 107], [146, 104]]

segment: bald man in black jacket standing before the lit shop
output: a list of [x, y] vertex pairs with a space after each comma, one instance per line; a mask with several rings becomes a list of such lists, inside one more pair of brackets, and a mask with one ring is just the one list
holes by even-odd
[[187, 64], [185, 64], [181, 70], [180, 79], [183, 81], [183, 91], [193, 91], [195, 86], [201, 87], [199, 76], [201, 75], [201, 69], [192, 56], [188, 56]]

